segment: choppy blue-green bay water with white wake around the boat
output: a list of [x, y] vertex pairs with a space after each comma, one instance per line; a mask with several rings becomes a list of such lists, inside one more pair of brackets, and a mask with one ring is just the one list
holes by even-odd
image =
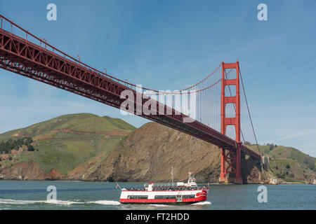
[[[124, 182], [121, 187], [143, 187]], [[48, 186], [57, 200], [47, 201]], [[207, 202], [190, 205], [120, 204], [116, 183], [79, 181], [0, 181], [0, 209], [316, 209], [316, 186], [266, 186], [268, 202], [258, 202], [259, 185], [210, 186]]]

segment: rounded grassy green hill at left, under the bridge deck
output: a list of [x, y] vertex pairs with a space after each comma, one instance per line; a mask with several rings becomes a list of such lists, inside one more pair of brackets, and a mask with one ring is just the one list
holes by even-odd
[[57, 169], [60, 174], [67, 174], [100, 153], [110, 153], [135, 129], [123, 120], [91, 113], [59, 116], [0, 134], [0, 141], [32, 137], [35, 148], [34, 152], [11, 153], [11, 160], [1, 161], [0, 165], [7, 167], [12, 162], [36, 162], [44, 172]]

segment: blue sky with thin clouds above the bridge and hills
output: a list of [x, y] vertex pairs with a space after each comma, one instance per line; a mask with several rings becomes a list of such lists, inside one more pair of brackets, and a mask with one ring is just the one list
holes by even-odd
[[[48, 21], [48, 3], [57, 20]], [[268, 20], [259, 21], [265, 3]], [[0, 13], [122, 80], [180, 90], [239, 60], [259, 144], [316, 157], [316, 1], [0, 1]], [[0, 133], [67, 113], [121, 118], [77, 94], [0, 70]]]

